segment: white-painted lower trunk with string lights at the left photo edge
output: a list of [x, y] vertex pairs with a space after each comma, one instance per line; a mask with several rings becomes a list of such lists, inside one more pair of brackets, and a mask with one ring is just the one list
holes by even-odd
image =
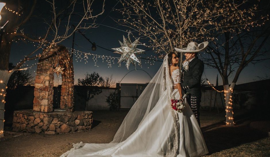
[[0, 138], [4, 137], [4, 112], [7, 81], [13, 72], [0, 70]]

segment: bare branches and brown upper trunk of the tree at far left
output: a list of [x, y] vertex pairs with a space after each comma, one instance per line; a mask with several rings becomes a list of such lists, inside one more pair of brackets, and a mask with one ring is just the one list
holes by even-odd
[[[10, 14], [9, 11], [5, 9], [3, 14], [9, 13], [10, 15], [2, 16], [3, 19], [1, 20], [1, 25], [3, 25], [3, 23], [5, 23], [7, 20], [9, 20], [9, 23], [7, 23], [5, 26], [5, 33], [3, 34], [3, 41], [0, 48], [0, 55], [3, 56], [0, 59], [0, 70], [8, 69], [10, 48], [13, 39], [16, 39], [16, 37], [20, 37], [21, 40], [37, 42], [38, 47], [26, 55], [25, 58], [22, 59], [22, 61], [18, 63], [13, 70], [19, 69], [26, 61], [42, 57], [45, 53], [49, 52], [51, 48], [70, 37], [77, 30], [96, 27], [96, 18], [104, 12], [104, 2], [101, 11], [95, 15], [93, 14], [92, 9], [92, 3], [94, 1], [91, 0], [86, 0], [83, 2], [77, 2], [77, 0], [66, 1], [66, 5], [61, 6], [61, 9], [57, 9], [55, 0], [46, 0], [46, 2], [51, 6], [51, 19], [44, 19], [44, 23], [47, 25], [47, 31], [43, 37], [30, 37], [26, 33], [18, 32], [20, 27], [27, 23], [30, 17], [34, 16], [32, 14], [37, 4], [36, 0], [33, 1], [33, 4], [31, 4], [29, 1], [6, 2], [7, 7], [15, 6], [16, 8], [14, 9], [18, 10], [18, 14]], [[75, 7], [81, 7], [82, 9], [80, 10], [83, 12], [75, 12]], [[30, 8], [30, 10], [27, 10], [27, 8]], [[73, 17], [76, 17], [77, 21], [75, 21], [76, 25], [74, 29], [71, 29], [72, 24], [74, 24], [74, 22], [71, 20]], [[87, 20], [92, 20], [92, 24], [82, 24]], [[42, 52], [40, 52], [40, 50]]]

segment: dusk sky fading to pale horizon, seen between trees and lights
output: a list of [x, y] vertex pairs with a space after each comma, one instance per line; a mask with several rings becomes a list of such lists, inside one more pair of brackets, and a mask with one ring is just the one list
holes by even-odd
[[[86, 37], [88, 37], [88, 39], [90, 39], [91, 42], [95, 42], [97, 45], [104, 47], [106, 49], [120, 47], [118, 40], [123, 41], [123, 35], [125, 37], [127, 37], [128, 33], [126, 31], [127, 30], [129, 31], [129, 29], [127, 27], [119, 26], [119, 25], [117, 25], [117, 23], [115, 23], [112, 20], [112, 17], [121, 18], [121, 15], [119, 13], [112, 10], [112, 8], [114, 6], [115, 6], [115, 8], [121, 7], [121, 4], [120, 3], [117, 4], [117, 2], [118, 2], [117, 0], [105, 1], [105, 11], [102, 15], [100, 15], [97, 18], [97, 21], [96, 21], [97, 24], [101, 24], [101, 25], [98, 25], [97, 28], [91, 28], [88, 30], [81, 30], [84, 32]], [[40, 17], [48, 17], [48, 15], [50, 15], [50, 13], [49, 13], [48, 9], [46, 9], [46, 8], [48, 8], [49, 5], [46, 2], [43, 2], [42, 4], [40, 4], [41, 2], [38, 1], [38, 3], [39, 4], [37, 5], [34, 14], [40, 15]], [[76, 8], [76, 9], [81, 9], [81, 8]], [[100, 1], [97, 1], [96, 3], [94, 3], [93, 9], [94, 10], [96, 9], [95, 11], [101, 11]], [[73, 18], [72, 21], [75, 22], [78, 20], [76, 20], [76, 18]], [[84, 22], [87, 23], [88, 21], [84, 21]], [[92, 23], [92, 21], [89, 21], [89, 23]], [[74, 24], [76, 24], [76, 23], [74, 23]], [[103, 25], [106, 25], [106, 26], [103, 26]], [[109, 26], [109, 27], [107, 27], [107, 26]], [[113, 28], [110, 28], [110, 27], [113, 27]], [[43, 34], [45, 34], [45, 31], [46, 31], [45, 26], [43, 24], [43, 20], [41, 18], [36, 18], [36, 17], [32, 18], [22, 28], [24, 28], [24, 32], [26, 34], [32, 34], [32, 35], [38, 35], [38, 36], [42, 36]], [[144, 41], [142, 41], [142, 42], [144, 42]], [[197, 42], [200, 43], [200, 41], [197, 41]], [[65, 40], [61, 44], [68, 47], [68, 48], [71, 48], [72, 47], [72, 37]], [[148, 43], [145, 42], [145, 44], [148, 44]], [[13, 63], [14, 65], [16, 65], [20, 61], [20, 59], [23, 59], [23, 57], [25, 55], [29, 54], [32, 50], [35, 49], [34, 45], [35, 44], [33, 44], [33, 43], [24, 43], [21, 41], [19, 41], [17, 43], [14, 42], [12, 44], [11, 55], [10, 55], [9, 61], [11, 63]], [[266, 45], [269, 45], [269, 40], [267, 41]], [[119, 57], [120, 56], [119, 54], [101, 49], [99, 47], [97, 47], [96, 51], [92, 51], [91, 47], [92, 47], [91, 43], [89, 43], [82, 35], [80, 35], [79, 33], [75, 34], [74, 49], [76, 49], [76, 50], [87, 52], [87, 53], [93, 53], [93, 54], [97, 54], [97, 55], [105, 55], [105, 56], [107, 55], [107, 56], [111, 56], [111, 57]], [[142, 45], [139, 45], [138, 48], [139, 49], [149, 49], [149, 48], [146, 48]], [[268, 49], [269, 49], [269, 47], [268, 47]], [[203, 52], [201, 52], [200, 54], [203, 55]], [[151, 55], [157, 56], [152, 51], [146, 51], [146, 54], [137, 55], [137, 57], [146, 58], [146, 57], [151, 57]], [[159, 60], [162, 60], [162, 59], [159, 59]], [[98, 59], [98, 62], [97, 62], [97, 65], [99, 67], [94, 66], [95, 63], [93, 62], [92, 57], [89, 57], [89, 59], [87, 60], [88, 63], [86, 63], [86, 64], [85, 64], [85, 61], [83, 59], [81, 62], [80, 61], [76, 62], [75, 56], [74, 56], [73, 61], [74, 61], [75, 84], [77, 83], [77, 80], [79, 78], [85, 77], [86, 72], [92, 73], [95, 71], [103, 77], [106, 77], [106, 76], [109, 76], [112, 74], [113, 79], [116, 82], [119, 82], [124, 77], [124, 75], [126, 75], [126, 73], [135, 69], [135, 67], [133, 65], [130, 65], [129, 70], [128, 70], [125, 66], [125, 63], [122, 63], [122, 66], [118, 67], [117, 60], [115, 60], [115, 63], [112, 64], [111, 68], [108, 68], [106, 61], [104, 61], [102, 63], [101, 58]], [[152, 77], [154, 77], [154, 75], [156, 74], [156, 72], [158, 71], [159, 67], [162, 64], [162, 62], [155, 62], [154, 65], [150, 65], [149, 63], [147, 63], [147, 60], [142, 59], [141, 61], [142, 61], [142, 68], [137, 65], [137, 69], [143, 69], [143, 70], [147, 71]], [[37, 60], [34, 60], [34, 61], [29, 61], [26, 64], [32, 65], [32, 64], [37, 63], [37, 62], [38, 62]], [[237, 84], [252, 82], [252, 81], [254, 81], [254, 79], [257, 79], [256, 76], [264, 77], [265, 74], [270, 76], [269, 67], [270, 67], [269, 61], [263, 61], [263, 62], [258, 63], [256, 65], [249, 64], [248, 67], [245, 67], [244, 70], [242, 71], [242, 73], [240, 74], [240, 77], [238, 79]], [[35, 75], [35, 73], [34, 73], [35, 70], [36, 70], [36, 66], [29, 69], [29, 71], [32, 73], [32, 75]], [[206, 74], [207, 78], [209, 79], [209, 81], [211, 83], [215, 84], [218, 71], [216, 69], [209, 69], [209, 68], [207, 68], [207, 66], [205, 66], [205, 74]], [[205, 76], [203, 75], [202, 78], [205, 78]], [[221, 83], [222, 83], [221, 77], [219, 76], [218, 78], [219, 78], [219, 85], [221, 85]], [[233, 77], [229, 78], [229, 82], [231, 82], [232, 79], [233, 79]], [[56, 76], [55, 81], [58, 81], [58, 80], [61, 80], [61, 78], [57, 79], [57, 76]], [[151, 78], [144, 71], [139, 70], [139, 71], [132, 71], [131, 73], [129, 73], [122, 80], [121, 83], [146, 83], [146, 82], [149, 82], [150, 80], [151, 80]]]

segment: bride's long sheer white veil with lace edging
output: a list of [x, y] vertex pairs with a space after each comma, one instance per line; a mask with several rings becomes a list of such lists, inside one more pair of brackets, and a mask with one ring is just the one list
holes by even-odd
[[[164, 94], [166, 94], [170, 104], [172, 87], [172, 79], [169, 76], [168, 55], [166, 55], [156, 75], [134, 103], [110, 143], [119, 143], [126, 140], [138, 128]], [[161, 126], [161, 129], [162, 127], [164, 126]]]

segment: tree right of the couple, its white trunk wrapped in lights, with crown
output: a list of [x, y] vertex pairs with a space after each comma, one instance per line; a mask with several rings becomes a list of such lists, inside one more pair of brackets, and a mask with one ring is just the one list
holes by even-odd
[[[259, 6], [259, 2], [244, 2], [247, 4], [239, 7], [243, 11], [241, 18], [233, 19], [238, 21], [238, 25], [233, 25], [231, 29], [221, 28], [223, 34], [212, 34], [214, 40], [208, 46], [207, 52], [201, 55], [204, 63], [210, 68], [217, 69], [222, 78], [223, 90], [217, 91], [224, 92], [226, 126], [235, 124], [232, 92], [240, 73], [250, 63], [256, 64], [269, 59], [267, 57], [269, 50], [264, 47], [270, 35], [269, 12], [265, 12], [265, 10], [269, 11], [267, 9], [269, 6], [263, 3]], [[229, 77], [233, 77], [230, 84]], [[208, 80], [207, 82], [211, 84]]]

